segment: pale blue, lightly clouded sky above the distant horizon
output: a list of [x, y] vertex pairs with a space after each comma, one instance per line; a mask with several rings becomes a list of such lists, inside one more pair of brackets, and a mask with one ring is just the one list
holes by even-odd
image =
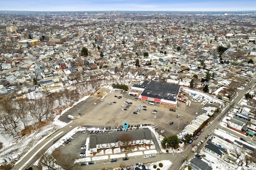
[[256, 0], [0, 0], [14, 11], [256, 11]]

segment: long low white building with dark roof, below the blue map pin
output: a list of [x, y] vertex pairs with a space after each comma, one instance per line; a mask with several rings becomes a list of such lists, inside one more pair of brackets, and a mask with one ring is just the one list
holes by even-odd
[[122, 146], [119, 141], [120, 136], [130, 135], [133, 141], [129, 145], [153, 144], [153, 137], [148, 128], [137, 129], [133, 131], [117, 131], [112, 133], [98, 133], [90, 135], [90, 152], [97, 152], [97, 149], [112, 148]]

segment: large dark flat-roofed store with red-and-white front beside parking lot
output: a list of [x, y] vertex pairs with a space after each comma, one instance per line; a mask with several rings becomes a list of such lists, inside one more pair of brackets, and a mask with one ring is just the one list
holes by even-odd
[[154, 102], [162, 106], [177, 107], [180, 85], [166, 82], [144, 81], [134, 84], [130, 88], [131, 93], [139, 94], [138, 100]]

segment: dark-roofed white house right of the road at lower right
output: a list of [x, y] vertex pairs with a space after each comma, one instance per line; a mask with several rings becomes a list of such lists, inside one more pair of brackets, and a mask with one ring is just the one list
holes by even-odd
[[205, 149], [208, 153], [210, 153], [210, 154], [212, 154], [212, 155], [214, 155], [214, 156], [216, 156], [216, 157], [224, 158], [224, 156], [225, 156], [225, 149], [219, 147], [218, 145], [215, 145], [215, 144], [212, 143], [211, 141], [208, 141], [208, 142], [206, 143], [206, 145], [204, 146], [204, 149]]

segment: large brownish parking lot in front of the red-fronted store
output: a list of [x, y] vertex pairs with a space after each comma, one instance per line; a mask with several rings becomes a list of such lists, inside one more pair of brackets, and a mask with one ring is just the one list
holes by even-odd
[[[118, 99], [114, 96], [122, 96], [122, 98]], [[122, 110], [123, 107], [121, 106], [126, 106], [124, 102], [127, 99], [130, 99], [133, 104], [127, 110]], [[113, 103], [114, 101], [116, 103]], [[112, 102], [112, 104], [108, 104], [108, 102]], [[67, 115], [70, 114], [75, 117], [74, 121], [78, 125], [85, 127], [122, 126], [124, 121], [127, 121], [130, 125], [152, 123], [158, 127], [159, 132], [164, 130], [163, 135], [172, 135], [180, 133], [196, 116], [202, 114], [203, 111], [201, 108], [204, 107], [198, 102], [192, 101], [191, 106], [186, 106], [186, 104], [179, 102], [176, 111], [169, 111], [169, 107], [159, 105], [149, 106], [147, 103], [134, 99], [134, 96], [130, 96], [128, 92], [122, 93], [121, 90], [115, 90], [114, 92], [108, 93], [104, 97], [104, 101], [100, 101], [100, 98], [90, 96], [87, 100], [80, 102], [68, 110], [60, 117], [60, 120], [64, 122], [71, 121], [67, 118]], [[133, 111], [138, 108], [138, 105], [146, 106], [147, 110], [141, 109], [139, 114], [133, 114]], [[197, 107], [198, 115], [195, 114]], [[158, 110], [156, 114], [152, 114], [154, 109]], [[78, 112], [82, 115], [78, 115]], [[176, 117], [178, 114], [180, 114], [180, 117]], [[170, 125], [170, 121], [174, 123]]]

